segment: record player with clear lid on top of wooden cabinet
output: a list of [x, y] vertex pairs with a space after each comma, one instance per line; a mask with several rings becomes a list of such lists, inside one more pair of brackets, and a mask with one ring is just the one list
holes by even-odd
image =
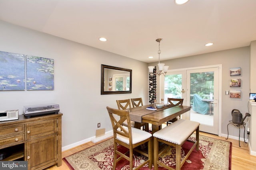
[[59, 111], [60, 111], [60, 106], [54, 103], [23, 107], [23, 113], [25, 117], [53, 114], [53, 113], [58, 113]]

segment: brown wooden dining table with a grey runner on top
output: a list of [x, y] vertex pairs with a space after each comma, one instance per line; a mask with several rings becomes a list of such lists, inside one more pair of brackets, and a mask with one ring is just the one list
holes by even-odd
[[168, 105], [163, 108], [157, 108], [157, 110], [147, 110], [147, 107], [152, 105], [144, 105], [140, 107], [133, 107], [128, 109], [130, 112], [130, 119], [135, 122], [136, 128], [140, 129], [140, 123], [152, 124], [152, 134], [159, 131], [162, 128], [162, 124], [174, 119], [190, 111], [191, 106], [175, 106]]

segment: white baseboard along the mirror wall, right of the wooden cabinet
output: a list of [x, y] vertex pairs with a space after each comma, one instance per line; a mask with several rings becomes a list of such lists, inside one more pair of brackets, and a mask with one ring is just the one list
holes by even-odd
[[[100, 136], [100, 137], [97, 137], [97, 138], [96, 138], [95, 136], [93, 136], [93, 137], [90, 137], [90, 138], [88, 138], [88, 139], [84, 139], [84, 140], [82, 140], [82, 141], [78, 141], [78, 142], [76, 142], [76, 143], [72, 143], [72, 144], [70, 144], [70, 145], [67, 145], [67, 146], [65, 146], [65, 147], [62, 147], [62, 152], [65, 151], [65, 150], [68, 150], [68, 149], [72, 149], [72, 148], [74, 148], [74, 147], [78, 147], [79, 145], [83, 145], [84, 143], [91, 142], [92, 140], [93, 140], [93, 141], [96, 141], [96, 142], [99, 142], [99, 141], [102, 141], [102, 140], [104, 140], [104, 139], [106, 139], [106, 138], [108, 138], [108, 137], [111, 137], [111, 136], [113, 136], [113, 131], [112, 131], [112, 130], [106, 132], [105, 135], [102, 135], [102, 136]], [[93, 142], [93, 143], [94, 143], [94, 142]]]

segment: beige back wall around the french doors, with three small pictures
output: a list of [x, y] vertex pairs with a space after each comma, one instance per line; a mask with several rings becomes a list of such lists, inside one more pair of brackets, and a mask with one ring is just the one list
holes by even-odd
[[[239, 109], [243, 113], [243, 117], [248, 112], [248, 100], [249, 100], [249, 57], [250, 48], [241, 47], [236, 49], [229, 49], [224, 51], [217, 51], [214, 53], [206, 53], [201, 55], [194, 55], [190, 57], [183, 57], [179, 59], [172, 59], [168, 61], [161, 61], [169, 66], [170, 69], [179, 68], [191, 68], [207, 65], [222, 64], [222, 134], [227, 135], [228, 121], [232, 120], [232, 109]], [[150, 65], [156, 65], [157, 63], [150, 63]], [[241, 76], [230, 76], [230, 68], [241, 67]], [[158, 68], [157, 68], [158, 69]], [[242, 84], [240, 88], [230, 88], [231, 78], [241, 78]], [[240, 89], [241, 98], [229, 98], [225, 95], [225, 90]], [[242, 134], [242, 133], [241, 133]], [[221, 135], [221, 134], [220, 134]], [[238, 137], [238, 128], [229, 126], [229, 135]], [[242, 136], [242, 135], [241, 135]], [[240, 137], [241, 137], [240, 136]]]

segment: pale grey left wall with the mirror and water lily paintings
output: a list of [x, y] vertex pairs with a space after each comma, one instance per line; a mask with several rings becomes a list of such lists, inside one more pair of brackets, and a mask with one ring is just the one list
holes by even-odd
[[[0, 21], [0, 51], [54, 59], [54, 90], [0, 91], [0, 110], [57, 103], [62, 117], [62, 147], [95, 136], [97, 124], [112, 130], [106, 106], [142, 97], [148, 103], [147, 64]], [[132, 94], [100, 95], [101, 64], [132, 70]], [[20, 115], [23, 116], [23, 115]]]

